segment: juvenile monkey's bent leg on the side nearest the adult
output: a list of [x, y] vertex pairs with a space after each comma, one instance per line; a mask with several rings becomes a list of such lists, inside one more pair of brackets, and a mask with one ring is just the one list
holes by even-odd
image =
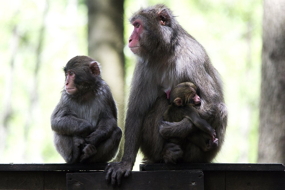
[[122, 138], [122, 130], [117, 127], [110, 138], [102, 141], [96, 147], [97, 152], [95, 155], [86, 159], [88, 163], [106, 163], [114, 159], [118, 153], [120, 141]]

